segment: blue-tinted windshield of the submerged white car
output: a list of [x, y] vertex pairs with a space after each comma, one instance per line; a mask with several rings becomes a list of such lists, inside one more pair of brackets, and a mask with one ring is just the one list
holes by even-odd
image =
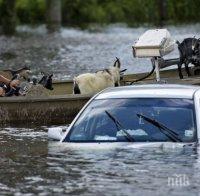
[[167, 142], [173, 141], [169, 129], [176, 134], [177, 141], [194, 142], [194, 116], [194, 104], [190, 99], [93, 100], [74, 123], [65, 141]]

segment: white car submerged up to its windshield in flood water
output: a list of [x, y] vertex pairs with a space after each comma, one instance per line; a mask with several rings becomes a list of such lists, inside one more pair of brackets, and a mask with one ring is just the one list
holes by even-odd
[[136, 85], [108, 88], [83, 107], [65, 133], [49, 129], [60, 142], [197, 143], [200, 87]]

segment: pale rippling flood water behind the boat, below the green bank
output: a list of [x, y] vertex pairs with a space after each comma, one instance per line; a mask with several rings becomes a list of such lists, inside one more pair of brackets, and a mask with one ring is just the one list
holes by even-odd
[[[168, 26], [174, 39], [200, 37], [200, 24]], [[128, 73], [151, 69], [149, 59], [134, 59], [132, 45], [147, 28], [110, 25], [99, 32], [63, 28], [61, 33], [47, 35], [43, 26], [36, 29], [19, 27], [20, 34], [0, 36], [0, 69], [28, 65], [34, 73], [54, 72], [56, 78], [72, 78], [78, 73], [96, 71], [112, 65], [119, 57]], [[178, 51], [169, 55], [177, 57]]]

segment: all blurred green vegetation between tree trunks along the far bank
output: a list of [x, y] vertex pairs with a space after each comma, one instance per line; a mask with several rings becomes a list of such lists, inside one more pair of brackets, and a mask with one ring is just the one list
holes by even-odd
[[[0, 18], [4, 13], [0, 0]], [[12, 2], [13, 0], [6, 0]], [[18, 24], [42, 24], [46, 22], [48, 0], [16, 0]], [[160, 3], [165, 2], [165, 16]], [[190, 23], [200, 21], [200, 0], [62, 0], [63, 25], [81, 26], [89, 23], [124, 22], [131, 26], [140, 24]], [[161, 10], [162, 11], [162, 10]], [[163, 20], [163, 18], [162, 18]], [[2, 25], [3, 21], [0, 20]]]

